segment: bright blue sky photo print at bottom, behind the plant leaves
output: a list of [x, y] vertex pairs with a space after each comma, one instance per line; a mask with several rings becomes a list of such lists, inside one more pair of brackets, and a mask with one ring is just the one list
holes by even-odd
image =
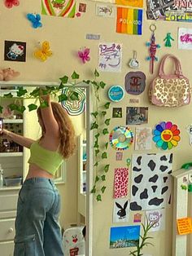
[[110, 249], [137, 247], [139, 236], [140, 226], [111, 227]]

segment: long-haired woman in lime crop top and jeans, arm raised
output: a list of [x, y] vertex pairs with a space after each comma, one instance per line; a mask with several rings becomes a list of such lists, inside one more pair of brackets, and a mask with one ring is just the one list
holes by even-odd
[[1, 135], [29, 148], [29, 170], [19, 193], [14, 256], [63, 256], [59, 226], [60, 196], [54, 183], [63, 159], [72, 155], [75, 132], [68, 114], [50, 96], [37, 109], [42, 135], [37, 141], [2, 129]]

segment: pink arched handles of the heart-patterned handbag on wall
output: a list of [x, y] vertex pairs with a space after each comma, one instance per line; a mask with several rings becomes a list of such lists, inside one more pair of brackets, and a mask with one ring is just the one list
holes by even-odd
[[175, 77], [175, 75], [166, 75], [164, 73], [164, 62], [168, 58], [172, 58], [172, 60], [174, 60], [174, 63], [175, 63], [175, 66], [176, 66], [175, 75], [177, 77], [183, 77], [183, 73], [182, 73], [182, 69], [181, 69], [181, 63], [177, 59], [177, 57], [174, 56], [174, 55], [164, 55], [163, 59], [161, 60], [160, 65], [159, 65], [159, 77], [161, 77], [161, 78], [164, 78], [164, 77]]

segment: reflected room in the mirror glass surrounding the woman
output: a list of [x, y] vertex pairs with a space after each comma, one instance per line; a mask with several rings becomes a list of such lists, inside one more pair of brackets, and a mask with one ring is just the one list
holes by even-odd
[[[28, 92], [35, 87], [24, 86]], [[85, 122], [85, 89], [78, 88], [78, 95], [81, 98], [73, 101], [65, 101], [61, 105], [68, 113], [75, 129], [76, 149], [72, 156], [59, 167], [55, 173], [55, 185], [59, 190], [61, 198], [61, 210], [59, 213], [59, 223], [63, 235], [64, 255], [84, 255], [85, 254], [85, 219], [86, 219], [86, 122]], [[0, 87], [0, 106], [2, 106], [3, 129], [26, 138], [41, 138], [41, 124], [38, 120], [37, 111], [28, 111], [28, 105], [34, 104], [34, 99], [15, 98], [17, 88]], [[63, 89], [68, 94], [68, 88]], [[3, 95], [11, 93], [13, 97], [4, 98]], [[57, 101], [51, 98], [51, 101]], [[11, 110], [11, 104], [20, 104], [25, 107], [24, 113]], [[16, 205], [18, 194], [24, 180], [28, 175], [28, 159], [30, 157], [29, 148], [22, 147], [6, 136], [0, 137], [0, 172], [2, 183], [0, 191], [3, 195], [10, 196], [10, 209], [13, 209], [11, 218], [16, 216]], [[21, 194], [22, 196], [22, 194]], [[39, 202], [41, 203], [41, 202]], [[7, 209], [2, 209], [1, 211]], [[11, 232], [11, 254], [14, 250], [15, 227], [12, 223]], [[15, 254], [14, 254], [15, 255]], [[62, 254], [61, 254], [62, 255]], [[17, 256], [17, 255], [16, 255]], [[18, 255], [19, 256], [19, 255]]]

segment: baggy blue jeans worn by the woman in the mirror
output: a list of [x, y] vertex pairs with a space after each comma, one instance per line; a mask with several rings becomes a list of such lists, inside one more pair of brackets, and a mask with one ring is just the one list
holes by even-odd
[[59, 210], [53, 180], [24, 181], [17, 203], [14, 256], [63, 256]]

